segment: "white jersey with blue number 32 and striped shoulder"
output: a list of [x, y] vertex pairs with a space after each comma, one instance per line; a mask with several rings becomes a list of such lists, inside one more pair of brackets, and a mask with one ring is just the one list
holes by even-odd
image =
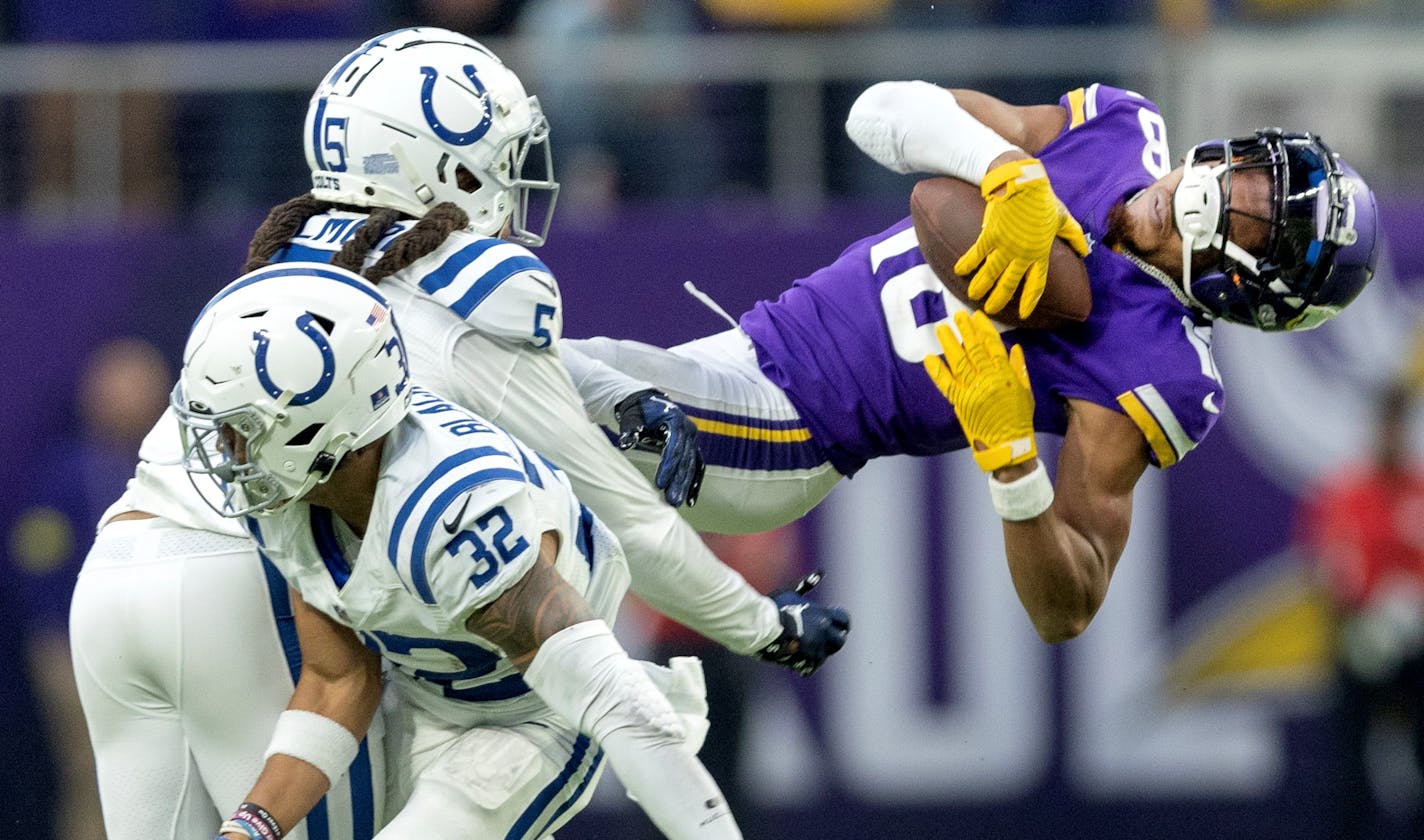
[[406, 699], [461, 726], [545, 713], [504, 653], [466, 628], [533, 567], [543, 534], [558, 535], [558, 574], [609, 625], [628, 588], [617, 540], [558, 468], [419, 387], [386, 440], [365, 538], [305, 503], [246, 523], [309, 605], [394, 666]]

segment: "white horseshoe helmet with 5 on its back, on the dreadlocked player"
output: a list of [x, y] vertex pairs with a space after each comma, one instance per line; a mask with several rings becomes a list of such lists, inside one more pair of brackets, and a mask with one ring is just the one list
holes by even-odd
[[[538, 98], [490, 50], [459, 33], [414, 27], [342, 58], [306, 111], [312, 195], [416, 218], [449, 201], [487, 236], [543, 245], [558, 182]], [[543, 179], [524, 177], [534, 149]], [[528, 226], [531, 194], [543, 192]]]

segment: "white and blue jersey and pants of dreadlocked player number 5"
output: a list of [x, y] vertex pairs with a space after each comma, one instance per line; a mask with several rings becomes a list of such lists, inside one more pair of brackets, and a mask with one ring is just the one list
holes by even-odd
[[[366, 218], [366, 214], [342, 211], [318, 215], [273, 259], [329, 262]], [[373, 265], [390, 242], [412, 225], [412, 221], [393, 225], [367, 255], [366, 266]], [[580, 498], [618, 535], [634, 572], [634, 591], [665, 615], [739, 653], [759, 651], [776, 639], [780, 619], [772, 601], [719, 562], [698, 534], [588, 421], [557, 350], [562, 333], [558, 285], [528, 249], [457, 231], [431, 253], [383, 280], [380, 290], [400, 319], [414, 377], [511, 430], [557, 463]], [[181, 816], [184, 826], [201, 824], [198, 834], [211, 831], [251, 790], [261, 772], [272, 726], [290, 699], [299, 668], [286, 589], [278, 572], [259, 565], [249, 541], [238, 538], [242, 531], [202, 500], [181, 460], [177, 421], [169, 411], [145, 440], [128, 493], [105, 514], [104, 521], [125, 511], [158, 514], [167, 524], [185, 531], [181, 540], [164, 541], [164, 557], [185, 569], [182, 574], [201, 571], [208, 575], [205, 581], [215, 582], [211, 588], [194, 591], [177, 585], [159, 589], [135, 574], [127, 584], [135, 589], [130, 601], [148, 604], [144, 615], [157, 619], [162, 615], [208, 616], [228, 611], [222, 615], [232, 621], [224, 621], [224, 629], [211, 634], [202, 628], [215, 626], [215, 622], [199, 622], [195, 628], [155, 624], [151, 632], [134, 631], [124, 656], [112, 655], [112, 645], [127, 636], [115, 634], [107, 621], [111, 592], [118, 585], [117, 575], [105, 575], [103, 582], [88, 568], [84, 572], [87, 579], [81, 575], [73, 609], [75, 672], [95, 745], [111, 837], [168, 837], [167, 826], [175, 809], [182, 814], [198, 814]], [[88, 565], [130, 564], [135, 552], [131, 541], [125, 538], [122, 545], [110, 548], [111, 538], [162, 524], [124, 521], [104, 528]], [[225, 540], [218, 548], [245, 561], [219, 568], [211, 560], [214, 551], [194, 544], [195, 540], [199, 544]], [[138, 551], [150, 551], [148, 545], [142, 544]], [[104, 560], [95, 561], [98, 555]], [[204, 565], [194, 565], [199, 562]], [[244, 562], [251, 568], [245, 569]], [[232, 605], [241, 605], [242, 615]], [[281, 621], [273, 622], [273, 615]], [[85, 639], [93, 639], [94, 651], [104, 655], [87, 653]], [[134, 661], [138, 652], [164, 649], [162, 645], [181, 646], [181, 653], [175, 652], [171, 665], [165, 666], [174, 669], [174, 681], [179, 672], [188, 675], [184, 692], [188, 712], [169, 713], [167, 708], [152, 712], [145, 698], [128, 698], [127, 689], [115, 688], [132, 682], [127, 662]], [[215, 705], [211, 713], [192, 712], [209, 693], [221, 703], [222, 692], [211, 686], [222, 685], [232, 671], [256, 675], [253, 682], [261, 682], [262, 691], [253, 695], [253, 700], [241, 712], [231, 705]], [[111, 700], [118, 700], [114, 710], [108, 710]], [[132, 747], [134, 743], [147, 743], [138, 732], [151, 726], [151, 719], [159, 715], [169, 720], [172, 737], [179, 743], [184, 726], [199, 733], [189, 745], [195, 753], [208, 749], [205, 745], [209, 740], [221, 743], [222, 752], [215, 753], [212, 762], [222, 762], [222, 769], [202, 770], [202, 784], [194, 784], [199, 770], [189, 765], [181, 747], [161, 753]], [[373, 743], [382, 735], [380, 723], [377, 716], [367, 735]], [[124, 735], [128, 730], [135, 733]], [[393, 749], [399, 752], [399, 745]], [[367, 753], [363, 750], [357, 760], [379, 765], [380, 750]], [[130, 772], [135, 766], [148, 770]], [[350, 837], [360, 840], [383, 823], [384, 813], [393, 813], [379, 809], [384, 786], [380, 767], [373, 766], [369, 773], [370, 792], [359, 783], [367, 773], [357, 770], [339, 783], [342, 790], [333, 789], [328, 803], [313, 810], [305, 824], [319, 830], [316, 826], [325, 807], [329, 813], [326, 830], [333, 840], [347, 837], [343, 834], [346, 826], [353, 826]], [[105, 776], [112, 780], [105, 782]], [[403, 772], [392, 767], [389, 776], [400, 784]], [[164, 782], [162, 790], [128, 782], [140, 777], [172, 782]], [[347, 786], [353, 787], [346, 792]], [[179, 793], [195, 796], [204, 787], [212, 792], [211, 799], [221, 814], [202, 802], [197, 812], [195, 806], [179, 803]], [[171, 796], [167, 793], [169, 789], [174, 792]], [[402, 799], [399, 792], [393, 796]], [[375, 810], [372, 802], [377, 806]], [[135, 820], [135, 814], [142, 819]], [[366, 814], [370, 814], [369, 821]], [[121, 831], [124, 824], [132, 826], [132, 833]], [[195, 836], [194, 831], [184, 829], [172, 836]], [[313, 840], [325, 837], [313, 834]]]

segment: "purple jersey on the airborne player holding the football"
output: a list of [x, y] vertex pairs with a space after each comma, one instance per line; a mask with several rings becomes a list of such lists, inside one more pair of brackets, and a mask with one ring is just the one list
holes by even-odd
[[[1096, 245], [1108, 211], [1171, 169], [1162, 117], [1138, 94], [1105, 85], [1062, 97], [1069, 120], [1038, 158], [1094, 243], [1092, 315], [1057, 330], [1010, 330], [1034, 387], [1034, 427], [1062, 434], [1064, 399], [1128, 414], [1152, 461], [1168, 467], [1212, 429], [1222, 386], [1212, 327], [1126, 256]], [[965, 447], [964, 431], [923, 359], [934, 325], [963, 305], [938, 282], [910, 219], [862, 239], [836, 262], [742, 316], [762, 370], [800, 411], [832, 464], [850, 476], [870, 458]], [[867, 316], [870, 315], [870, 316]]]

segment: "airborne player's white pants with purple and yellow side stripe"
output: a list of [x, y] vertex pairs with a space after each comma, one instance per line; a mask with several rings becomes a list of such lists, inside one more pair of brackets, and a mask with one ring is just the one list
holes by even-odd
[[[651, 382], [696, 423], [706, 477], [696, 505], [679, 513], [699, 531], [770, 531], [816, 507], [842, 477], [786, 393], [762, 373], [740, 330], [666, 349], [605, 337], [564, 340]], [[651, 478], [655, 454], [625, 454]]]

